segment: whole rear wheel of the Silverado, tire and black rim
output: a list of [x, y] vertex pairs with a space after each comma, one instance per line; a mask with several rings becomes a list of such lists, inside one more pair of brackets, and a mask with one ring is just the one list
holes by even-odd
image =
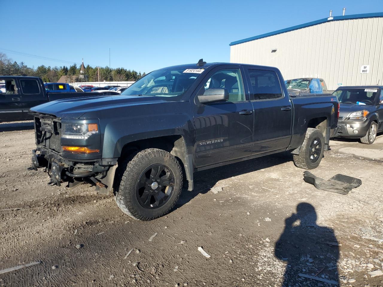
[[300, 168], [312, 170], [322, 160], [324, 152], [324, 137], [320, 130], [308, 128], [301, 145], [299, 155], [294, 155], [294, 163]]

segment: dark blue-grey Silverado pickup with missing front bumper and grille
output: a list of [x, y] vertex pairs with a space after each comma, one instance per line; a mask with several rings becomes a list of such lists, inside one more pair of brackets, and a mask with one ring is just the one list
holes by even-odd
[[120, 96], [62, 99], [31, 109], [35, 170], [50, 184], [113, 191], [138, 220], [175, 205], [193, 174], [290, 151], [316, 168], [337, 127], [331, 95], [290, 97], [277, 68], [210, 63], [155, 70]]

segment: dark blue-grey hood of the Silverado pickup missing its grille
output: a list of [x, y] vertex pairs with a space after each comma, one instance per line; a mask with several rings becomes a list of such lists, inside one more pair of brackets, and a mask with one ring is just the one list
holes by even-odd
[[165, 101], [152, 96], [89, 96], [47, 102], [34, 106], [30, 111], [56, 117], [78, 119], [84, 113], [100, 109], [160, 102]]

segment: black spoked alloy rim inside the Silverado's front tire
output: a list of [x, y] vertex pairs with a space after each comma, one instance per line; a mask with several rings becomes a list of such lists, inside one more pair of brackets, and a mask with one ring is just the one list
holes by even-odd
[[137, 199], [147, 209], [159, 208], [169, 200], [174, 185], [174, 174], [170, 168], [161, 164], [152, 165], [139, 178]]

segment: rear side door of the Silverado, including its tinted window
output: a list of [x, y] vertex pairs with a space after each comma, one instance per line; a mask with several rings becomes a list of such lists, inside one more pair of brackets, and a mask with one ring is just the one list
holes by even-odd
[[254, 153], [286, 149], [291, 139], [292, 107], [273, 68], [248, 68], [250, 98], [254, 108]]

